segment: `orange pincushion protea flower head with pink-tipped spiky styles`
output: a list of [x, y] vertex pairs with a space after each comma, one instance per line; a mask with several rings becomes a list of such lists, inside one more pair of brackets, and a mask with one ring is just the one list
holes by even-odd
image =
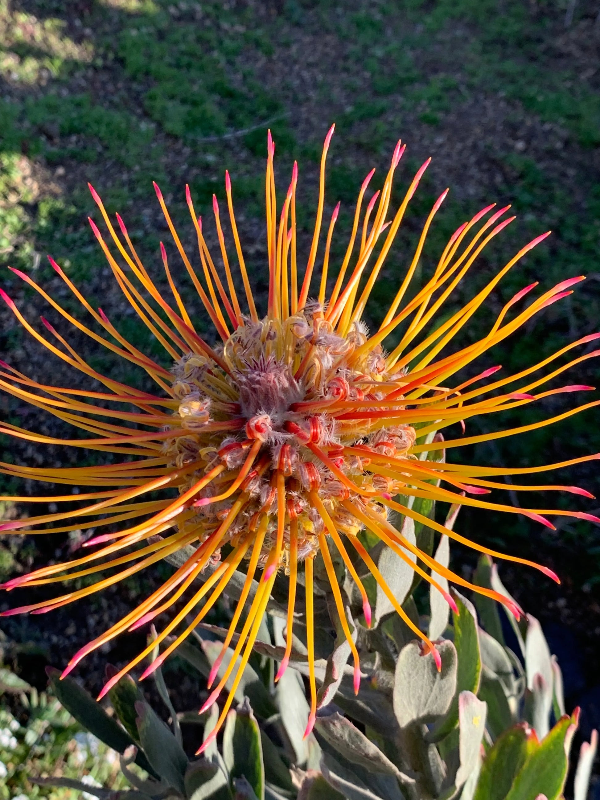
[[[450, 605], [454, 604], [450, 595], [434, 577], [413, 562], [411, 555], [417, 555], [420, 563], [428, 568], [434, 566], [435, 573], [451, 582], [496, 598], [514, 614], [519, 614], [519, 609], [507, 598], [494, 591], [472, 586], [459, 575], [443, 569], [430, 555], [418, 550], [390, 522], [390, 510], [399, 511], [416, 522], [426, 523], [434, 530], [482, 553], [534, 566], [550, 578], [558, 580], [545, 566], [538, 566], [517, 556], [499, 554], [478, 542], [470, 542], [460, 534], [422, 516], [412, 507], [397, 502], [393, 498], [398, 494], [405, 498], [430, 498], [504, 510], [511, 514], [525, 514], [550, 527], [552, 525], [545, 514], [566, 514], [598, 522], [590, 514], [578, 511], [514, 508], [480, 498], [480, 495], [487, 494], [491, 489], [505, 488], [502, 482], [494, 481], [498, 476], [541, 472], [598, 458], [597, 455], [531, 469], [466, 466], [435, 458], [436, 454], [442, 456], [444, 450], [534, 430], [598, 404], [598, 401], [591, 402], [543, 422], [480, 436], [444, 441], [439, 433], [457, 422], [464, 425], [462, 421], [475, 414], [493, 414], [524, 406], [550, 394], [591, 388], [562, 386], [559, 389], [535, 393], [538, 387], [569, 366], [596, 353], [584, 354], [542, 374], [539, 374], [540, 370], [575, 346], [591, 342], [600, 334], [581, 338], [519, 374], [494, 382], [482, 385], [482, 381], [490, 378], [499, 367], [474, 377], [458, 379], [458, 382], [454, 378], [455, 374], [470, 366], [471, 362], [494, 344], [518, 330], [534, 314], [570, 294], [570, 286], [582, 278], [571, 278], [559, 283], [553, 289], [540, 294], [526, 308], [513, 311], [514, 306], [534, 290], [537, 284], [526, 286], [506, 303], [481, 339], [460, 350], [452, 350], [454, 336], [466, 326], [502, 276], [532, 247], [546, 238], [547, 234], [542, 234], [523, 247], [466, 306], [432, 328], [430, 323], [434, 315], [438, 314], [450, 298], [482, 249], [513, 219], [505, 218], [501, 221], [508, 206], [493, 213], [494, 206], [487, 206], [469, 222], [465, 222], [444, 248], [434, 274], [422, 288], [413, 290], [413, 296], [407, 301], [410, 282], [421, 258], [427, 231], [446, 198], [446, 190], [435, 202], [426, 219], [414, 257], [381, 326], [370, 333], [362, 322], [366, 302], [394, 242], [406, 206], [429, 160], [418, 170], [398, 210], [390, 219], [388, 213], [392, 180], [404, 146], [398, 142], [383, 188], [381, 192], [373, 194], [362, 214], [363, 202], [374, 170], [367, 175], [358, 194], [354, 225], [345, 257], [338, 267], [335, 280], [330, 280], [330, 245], [339, 204], [330, 218], [320, 274], [315, 274], [314, 268], [322, 233], [326, 154], [333, 131], [332, 127], [327, 134], [322, 153], [317, 220], [303, 274], [298, 271], [296, 243], [295, 198], [298, 169], [294, 163], [290, 188], [282, 209], [278, 211], [274, 183], [274, 143], [269, 135], [266, 164], [269, 295], [266, 316], [262, 318], [254, 302], [238, 238], [229, 174], [226, 173], [227, 206], [243, 294], [238, 293], [235, 286], [216, 198], [214, 218], [222, 257], [222, 274], [219, 274], [206, 246], [202, 221], [194, 210], [189, 189], [186, 190], [187, 205], [198, 239], [196, 260], [202, 270], [202, 282], [192, 266], [192, 256], [186, 254], [178, 238], [162, 194], [158, 186], [155, 186], [174, 247], [178, 250], [206, 313], [222, 340], [218, 346], [210, 346], [194, 329], [194, 320], [186, 311], [175, 286], [166, 247], [161, 244], [162, 263], [174, 302], [167, 302], [154, 286], [150, 274], [138, 258], [122, 218], [117, 214], [118, 232], [98, 194], [90, 187], [108, 230], [108, 240], [105, 241], [91, 219], [90, 225], [123, 294], [173, 359], [170, 370], [159, 366], [127, 342], [101, 309], [96, 310], [90, 306], [52, 259], [50, 262], [54, 270], [108, 338], [68, 314], [28, 275], [13, 270], [42, 294], [63, 318], [102, 346], [146, 370], [158, 387], [157, 394], [135, 390], [98, 373], [80, 358], [50, 322], [42, 320], [58, 342], [52, 343], [26, 321], [14, 302], [2, 292], [2, 297], [19, 322], [38, 342], [74, 369], [101, 382], [106, 391], [45, 386], [2, 362], [4, 390], [89, 432], [90, 436], [61, 440], [35, 434], [6, 422], [0, 427], [0, 432], [30, 442], [83, 447], [122, 454], [124, 457], [118, 463], [78, 469], [49, 469], [6, 463], [2, 465], [2, 471], [12, 476], [67, 486], [86, 486], [89, 491], [78, 495], [79, 500], [85, 501], [79, 510], [69, 510], [66, 513], [58, 511], [5, 522], [0, 530], [44, 534], [66, 532], [86, 526], [103, 526], [114, 530], [114, 526], [117, 526], [114, 532], [95, 535], [85, 543], [87, 547], [100, 545], [98, 550], [68, 563], [46, 566], [13, 578], [4, 584], [4, 588], [10, 590], [17, 586], [66, 582], [113, 570], [110, 577], [62, 594], [51, 602], [22, 606], [5, 611], [4, 614], [46, 613], [110, 586], [194, 544], [194, 554], [163, 586], [70, 660], [63, 675], [70, 672], [86, 654], [118, 634], [164, 614], [189, 590], [189, 600], [163, 627], [158, 634], [158, 640], [152, 642], [110, 679], [102, 690], [102, 697], [123, 674], [146, 658], [157, 643], [177, 630], [178, 635], [174, 641], [151, 663], [142, 678], [162, 663], [205, 617], [220, 594], [226, 591], [234, 570], [246, 563], [247, 578], [242, 596], [234, 610], [221, 656], [215, 662], [209, 680], [211, 685], [226, 648], [234, 634], [238, 633], [234, 658], [230, 658], [225, 674], [204, 706], [206, 708], [214, 703], [229, 680], [230, 692], [212, 737], [216, 735], [233, 701], [279, 571], [285, 571], [289, 576], [289, 606], [286, 654], [278, 677], [286, 669], [292, 646], [294, 601], [300, 565], [304, 567], [306, 585], [311, 692], [307, 733], [310, 731], [317, 702], [312, 630], [313, 562], [317, 554], [321, 554], [326, 574], [330, 578], [339, 618], [354, 657], [356, 691], [360, 682], [358, 651], [350, 635], [342, 594], [335, 577], [332, 550], [337, 551], [342, 558], [362, 594], [366, 626], [370, 625], [370, 606], [366, 590], [354, 566], [356, 558], [350, 558], [351, 550], [357, 552], [406, 625], [423, 639], [426, 651], [432, 653], [439, 662], [434, 643], [414, 626], [386, 586], [378, 567], [361, 541], [359, 534], [362, 530], [368, 529], [377, 534], [386, 546], [392, 548], [422, 578], [442, 592]], [[334, 286], [329, 290], [331, 283]], [[431, 332], [428, 333], [428, 330]], [[390, 334], [395, 334], [399, 343], [388, 353], [383, 350], [383, 345]], [[444, 355], [441, 355], [442, 351]], [[534, 373], [537, 377], [533, 377]], [[96, 402], [102, 402], [102, 405], [95, 405]], [[137, 410], [113, 410], [106, 403], [111, 406], [134, 406]], [[532, 487], [511, 484], [510, 488], [555, 488], [591, 497], [588, 492], [574, 486]], [[142, 499], [151, 493], [157, 499]], [[160, 498], [157, 493], [164, 493], [165, 496]], [[12, 499], [31, 501], [31, 498]], [[71, 502], [73, 495], [38, 500]], [[86, 519], [88, 522], [83, 522]], [[49, 523], [54, 522], [58, 522], [59, 526], [48, 527]], [[119, 529], [118, 523], [124, 523], [124, 527]], [[42, 529], [38, 526], [42, 526]], [[224, 546], [227, 546], [226, 557], [221, 558]], [[195, 582], [196, 578], [209, 564], [214, 567], [214, 571], [204, 582], [198, 584]], [[258, 590], [251, 595], [250, 589], [255, 575], [259, 577]], [[202, 600], [204, 602], [198, 611], [196, 606]], [[193, 610], [194, 618], [190, 619], [189, 615]], [[238, 631], [238, 623], [244, 610], [245, 622]], [[179, 630], [184, 620], [186, 627]]]

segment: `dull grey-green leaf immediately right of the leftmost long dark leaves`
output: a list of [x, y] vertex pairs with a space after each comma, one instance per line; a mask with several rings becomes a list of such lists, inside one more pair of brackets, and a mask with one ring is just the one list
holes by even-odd
[[182, 792], [189, 763], [182, 746], [146, 702], [136, 702], [135, 710], [139, 740], [150, 765], [169, 786]]

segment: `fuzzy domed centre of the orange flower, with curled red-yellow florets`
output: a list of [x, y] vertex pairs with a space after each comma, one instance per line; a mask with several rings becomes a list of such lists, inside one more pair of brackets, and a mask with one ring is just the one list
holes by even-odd
[[[285, 322], [246, 320], [219, 353], [227, 371], [199, 354], [175, 364], [174, 426], [187, 433], [166, 452], [174, 466], [196, 466], [181, 494], [222, 468], [198, 490], [180, 529], [197, 528], [204, 542], [241, 501], [222, 544], [235, 546], [266, 517], [260, 561], [266, 562], [283, 524], [280, 563], [287, 566], [292, 523], [298, 558], [318, 550], [325, 526], [321, 503], [344, 534], [363, 527], [342, 505], [346, 500], [386, 517], [378, 498], [398, 494], [402, 483], [370, 473], [369, 455], [406, 456], [415, 432], [370, 418], [370, 403], [385, 396], [381, 388], [388, 376], [381, 346], [357, 354], [367, 335], [358, 323], [342, 338], [314, 306]], [[345, 403], [355, 408], [363, 401], [361, 413], [345, 418]], [[396, 408], [402, 408], [402, 398]], [[223, 423], [222, 433], [214, 431], [215, 422]]]

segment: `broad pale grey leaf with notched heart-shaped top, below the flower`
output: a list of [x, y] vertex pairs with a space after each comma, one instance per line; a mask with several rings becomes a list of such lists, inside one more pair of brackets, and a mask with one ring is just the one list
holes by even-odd
[[434, 722], [450, 708], [456, 690], [456, 649], [446, 640], [437, 649], [442, 658], [440, 672], [433, 655], [422, 655], [419, 642], [409, 642], [398, 655], [394, 714], [402, 728], [412, 722]]

